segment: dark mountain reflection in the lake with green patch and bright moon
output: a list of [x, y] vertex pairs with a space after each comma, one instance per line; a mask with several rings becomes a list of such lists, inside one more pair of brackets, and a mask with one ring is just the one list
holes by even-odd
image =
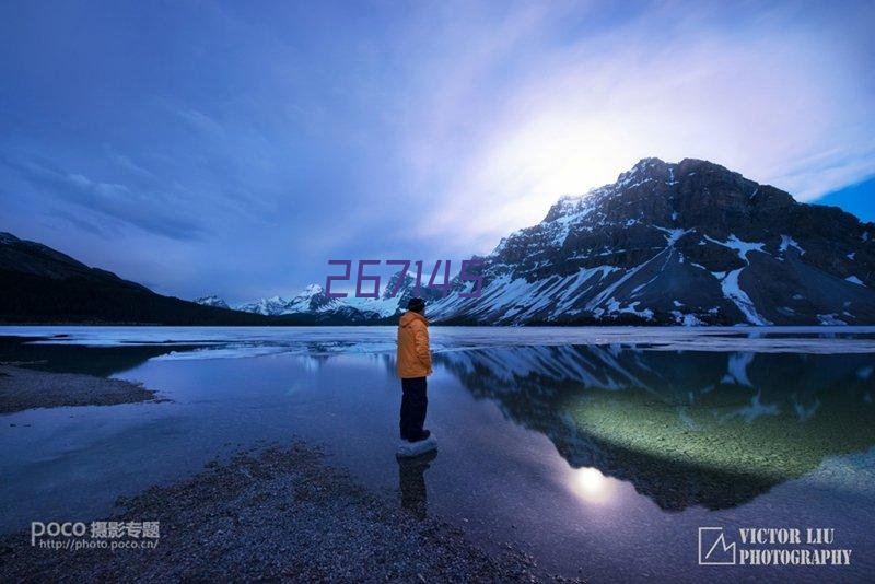
[[868, 354], [516, 347], [436, 360], [547, 435], [591, 501], [616, 477], [664, 510], [732, 507], [875, 443]]

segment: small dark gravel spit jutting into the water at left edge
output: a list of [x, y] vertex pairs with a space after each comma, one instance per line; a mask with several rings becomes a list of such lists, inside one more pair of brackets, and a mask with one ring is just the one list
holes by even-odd
[[113, 406], [154, 399], [155, 392], [124, 379], [0, 365], [0, 413], [60, 406]]

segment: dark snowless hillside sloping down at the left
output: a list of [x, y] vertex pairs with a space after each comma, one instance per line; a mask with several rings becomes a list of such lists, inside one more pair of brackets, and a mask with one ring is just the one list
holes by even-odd
[[46, 245], [0, 233], [0, 323], [259, 325], [265, 318], [163, 296]]

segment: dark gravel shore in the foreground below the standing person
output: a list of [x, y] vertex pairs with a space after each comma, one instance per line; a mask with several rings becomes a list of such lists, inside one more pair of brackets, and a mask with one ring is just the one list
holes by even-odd
[[370, 493], [302, 443], [211, 463], [119, 504], [113, 521], [160, 523], [156, 548], [43, 549], [21, 533], [0, 540], [0, 582], [557, 580], [522, 552], [487, 553]]

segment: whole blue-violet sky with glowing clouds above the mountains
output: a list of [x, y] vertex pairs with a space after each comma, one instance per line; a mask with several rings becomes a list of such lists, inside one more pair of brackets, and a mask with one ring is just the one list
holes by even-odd
[[469, 257], [638, 160], [875, 220], [875, 2], [0, 7], [0, 231], [153, 290]]

